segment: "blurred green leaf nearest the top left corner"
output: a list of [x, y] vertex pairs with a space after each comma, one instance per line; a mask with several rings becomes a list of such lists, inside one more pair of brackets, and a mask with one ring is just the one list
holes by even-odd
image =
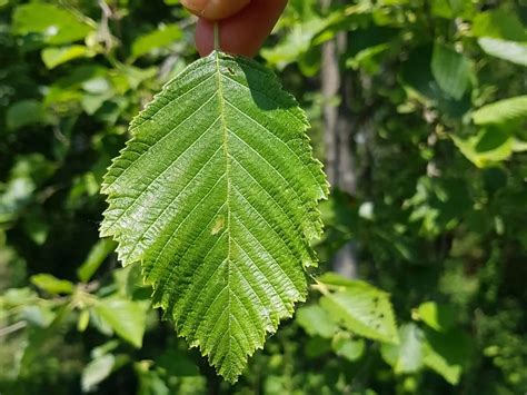
[[82, 40], [93, 31], [93, 22], [64, 8], [33, 2], [17, 7], [12, 28], [16, 34], [39, 33], [44, 42], [62, 45]]

